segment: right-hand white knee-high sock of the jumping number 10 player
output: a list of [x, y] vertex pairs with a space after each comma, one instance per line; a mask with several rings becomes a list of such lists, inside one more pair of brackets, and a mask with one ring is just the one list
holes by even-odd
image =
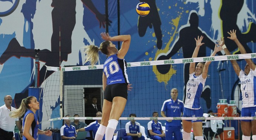
[[106, 127], [105, 140], [112, 140], [118, 121], [111, 119], [108, 121], [108, 126]]

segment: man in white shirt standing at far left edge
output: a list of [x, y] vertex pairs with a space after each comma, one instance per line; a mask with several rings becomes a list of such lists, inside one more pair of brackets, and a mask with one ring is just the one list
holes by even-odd
[[10, 111], [16, 110], [16, 108], [11, 106], [12, 101], [12, 96], [6, 95], [4, 97], [4, 105], [0, 107], [0, 140], [15, 140], [15, 124], [22, 135], [22, 127], [20, 126], [19, 118], [11, 118], [9, 116]]

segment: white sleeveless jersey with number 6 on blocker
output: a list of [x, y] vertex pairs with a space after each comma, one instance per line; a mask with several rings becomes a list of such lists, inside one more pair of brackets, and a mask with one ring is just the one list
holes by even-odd
[[256, 106], [256, 69], [250, 69], [248, 75], [243, 70], [239, 73], [242, 91], [242, 108], [249, 108]]

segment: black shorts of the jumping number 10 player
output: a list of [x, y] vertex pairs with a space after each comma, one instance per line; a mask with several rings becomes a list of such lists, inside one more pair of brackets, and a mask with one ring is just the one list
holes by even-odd
[[104, 99], [109, 102], [113, 101], [114, 97], [123, 97], [127, 99], [127, 84], [110, 84], [107, 85], [104, 91]]

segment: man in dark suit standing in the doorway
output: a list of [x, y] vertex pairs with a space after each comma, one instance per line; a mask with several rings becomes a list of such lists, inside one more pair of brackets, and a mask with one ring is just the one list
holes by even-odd
[[[92, 97], [91, 101], [92, 104], [88, 104], [85, 106], [85, 116], [87, 117], [94, 117], [98, 111], [102, 112], [101, 105], [97, 104], [98, 99], [96, 97]], [[85, 123], [90, 124], [93, 121], [94, 120], [85, 120]]]

